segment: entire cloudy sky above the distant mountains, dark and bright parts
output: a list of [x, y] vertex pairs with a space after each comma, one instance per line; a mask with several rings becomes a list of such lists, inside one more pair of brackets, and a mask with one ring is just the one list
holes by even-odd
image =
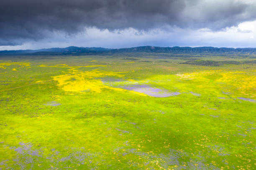
[[0, 50], [256, 47], [256, 0], [0, 0]]

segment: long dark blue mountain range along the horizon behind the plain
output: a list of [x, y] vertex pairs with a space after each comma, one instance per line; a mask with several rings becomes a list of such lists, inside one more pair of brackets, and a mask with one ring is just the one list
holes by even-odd
[[155, 53], [200, 53], [200, 54], [256, 54], [256, 48], [226, 48], [226, 47], [153, 47], [141, 46], [132, 48], [102, 48], [102, 47], [66, 47], [66, 48], [44, 48], [39, 50], [3, 50], [0, 55], [71, 55], [90, 53], [124, 53], [124, 52], [155, 52]]

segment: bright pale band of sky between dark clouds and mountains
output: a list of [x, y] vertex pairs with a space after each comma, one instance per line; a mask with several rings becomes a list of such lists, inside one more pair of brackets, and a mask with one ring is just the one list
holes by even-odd
[[68, 46], [123, 48], [144, 45], [161, 47], [256, 47], [255, 28], [256, 20], [244, 22], [237, 27], [225, 28], [218, 32], [207, 28], [192, 30], [169, 26], [150, 31], [138, 31], [133, 28], [109, 31], [92, 27], [75, 35], [67, 35], [64, 32], [48, 32], [49, 36], [42, 40], [24, 40], [23, 45], [0, 46], [0, 50], [34, 50]]

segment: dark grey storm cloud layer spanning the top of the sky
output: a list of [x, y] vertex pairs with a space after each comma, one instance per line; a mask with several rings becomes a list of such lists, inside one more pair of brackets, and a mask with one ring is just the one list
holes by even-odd
[[40, 40], [53, 31], [149, 30], [163, 25], [219, 30], [256, 19], [242, 0], [0, 0], [0, 45]]

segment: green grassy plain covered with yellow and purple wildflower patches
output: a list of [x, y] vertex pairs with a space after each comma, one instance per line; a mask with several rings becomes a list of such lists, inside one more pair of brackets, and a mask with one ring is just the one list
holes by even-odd
[[256, 169], [253, 57], [155, 56], [1, 57], [0, 170]]

